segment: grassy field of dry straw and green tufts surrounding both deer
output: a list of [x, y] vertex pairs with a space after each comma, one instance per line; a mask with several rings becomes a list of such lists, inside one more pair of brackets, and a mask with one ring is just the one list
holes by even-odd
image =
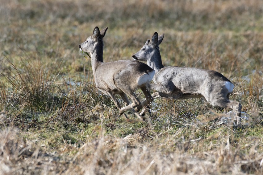
[[[263, 173], [262, 0], [0, 4], [0, 175]], [[217, 125], [228, 111], [201, 99], [157, 99], [127, 123], [78, 48], [95, 26], [109, 27], [105, 62], [165, 33], [163, 64], [230, 79], [243, 126]]]

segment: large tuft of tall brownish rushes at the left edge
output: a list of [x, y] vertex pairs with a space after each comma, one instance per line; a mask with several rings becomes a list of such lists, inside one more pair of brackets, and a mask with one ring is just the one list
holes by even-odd
[[[10, 63], [10, 75], [1, 73], [1, 110], [7, 111], [12, 119], [40, 120], [42, 113], [60, 108], [65, 101], [60, 85], [54, 83], [59, 76], [55, 64], [44, 65], [38, 59], [30, 60], [27, 55], [20, 58], [23, 68]], [[13, 118], [14, 119], [14, 118]]]

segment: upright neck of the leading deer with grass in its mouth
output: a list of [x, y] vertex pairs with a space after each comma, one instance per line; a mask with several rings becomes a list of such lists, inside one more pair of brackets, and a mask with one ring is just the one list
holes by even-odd
[[97, 43], [96, 46], [94, 46], [93, 53], [91, 54], [91, 66], [93, 74], [101, 63], [103, 63], [103, 43]]

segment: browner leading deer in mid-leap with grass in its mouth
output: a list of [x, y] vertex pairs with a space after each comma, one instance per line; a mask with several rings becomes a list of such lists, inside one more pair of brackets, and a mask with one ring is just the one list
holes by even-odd
[[[149, 82], [152, 80], [155, 70], [137, 60], [118, 60], [104, 63], [102, 39], [107, 29], [108, 27], [100, 31], [96, 26], [93, 34], [79, 45], [79, 49], [80, 51], [90, 53], [96, 87], [102, 93], [111, 97], [115, 106], [119, 109], [119, 114], [129, 120], [124, 112], [130, 110], [140, 120], [143, 120], [142, 116], [135, 111], [135, 108], [140, 110], [152, 102], [153, 98], [149, 90]], [[143, 103], [140, 102], [135, 94], [138, 88], [142, 90], [146, 98]], [[121, 108], [115, 96], [116, 94], [119, 94], [123, 99], [124, 107]], [[131, 104], [127, 96], [131, 98]]]

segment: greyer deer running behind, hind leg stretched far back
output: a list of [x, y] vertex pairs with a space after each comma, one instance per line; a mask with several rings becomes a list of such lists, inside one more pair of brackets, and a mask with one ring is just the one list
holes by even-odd
[[[155, 70], [150, 89], [156, 90], [152, 94], [153, 99], [167, 98], [183, 100], [189, 98], [203, 98], [205, 102], [220, 108], [232, 109], [233, 123], [241, 124], [241, 104], [235, 100], [229, 100], [234, 84], [219, 72], [194, 67], [177, 67], [162, 64], [159, 45], [164, 34], [158, 36], [155, 32], [151, 40], [147, 40], [144, 46], [134, 54], [134, 60], [147, 61], [147, 65]], [[143, 109], [141, 115], [146, 111]]]

